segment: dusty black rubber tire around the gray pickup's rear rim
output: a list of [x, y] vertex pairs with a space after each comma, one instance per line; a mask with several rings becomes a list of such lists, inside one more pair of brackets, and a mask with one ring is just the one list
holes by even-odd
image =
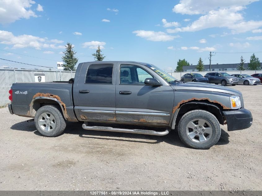
[[[45, 114], [45, 113], [49, 113], [49, 114], [53, 115], [53, 117], [54, 117], [55, 127], [52, 128], [53, 130], [51, 130], [50, 132], [45, 132], [39, 125], [39, 118], [42, 114]], [[35, 122], [35, 126], [36, 126], [37, 130], [39, 131], [39, 133], [41, 133], [43, 136], [46, 136], [46, 137], [56, 137], [56, 136], [60, 135], [61, 133], [63, 133], [65, 126], [66, 126], [63, 115], [54, 106], [40, 107], [36, 111], [34, 119], [35, 119], [34, 122]]]

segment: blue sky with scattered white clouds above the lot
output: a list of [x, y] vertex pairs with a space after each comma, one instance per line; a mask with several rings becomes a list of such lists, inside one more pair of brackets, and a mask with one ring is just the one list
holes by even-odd
[[[174, 70], [176, 60], [196, 64], [262, 61], [262, 2], [258, 0], [0, 0], [0, 58], [56, 67], [66, 42], [78, 63], [148, 62]], [[9, 63], [9, 64], [8, 64]], [[33, 68], [0, 60], [0, 67]]]

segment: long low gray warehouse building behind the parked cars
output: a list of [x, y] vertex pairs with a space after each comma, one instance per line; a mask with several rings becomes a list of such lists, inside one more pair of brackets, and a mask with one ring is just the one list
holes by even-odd
[[[232, 71], [237, 70], [237, 67], [240, 63], [233, 64], [211, 64], [211, 70], [209, 70], [209, 65], [204, 65], [204, 71]], [[247, 68], [248, 63], [244, 63], [244, 68]], [[262, 69], [262, 63], [260, 63], [260, 67]], [[196, 69], [196, 65], [183, 66], [184, 72], [195, 72], [198, 71]]]

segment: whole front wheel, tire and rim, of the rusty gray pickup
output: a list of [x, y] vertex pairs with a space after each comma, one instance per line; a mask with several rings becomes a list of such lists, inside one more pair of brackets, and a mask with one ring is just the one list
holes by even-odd
[[193, 110], [180, 119], [178, 134], [182, 142], [191, 148], [209, 149], [218, 142], [221, 129], [213, 114], [204, 110]]

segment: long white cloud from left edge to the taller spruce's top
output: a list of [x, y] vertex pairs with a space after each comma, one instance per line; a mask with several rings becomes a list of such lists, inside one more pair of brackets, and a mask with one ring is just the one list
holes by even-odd
[[[24, 48], [27, 46], [38, 48], [52, 48], [52, 49], [62, 49], [64, 48], [63, 45], [56, 45], [56, 43], [61, 42], [60, 40], [48, 40], [47, 37], [41, 38], [36, 37], [33, 35], [18, 35], [15, 36], [13, 33], [8, 31], [1, 31], [0, 30], [0, 37], [4, 38], [9, 41], [0, 41], [0, 44], [6, 44], [6, 45], [13, 45], [12, 49], [17, 48]], [[50, 42], [54, 42], [54, 44], [49, 44]], [[26, 46], [25, 46], [26, 45]]]

